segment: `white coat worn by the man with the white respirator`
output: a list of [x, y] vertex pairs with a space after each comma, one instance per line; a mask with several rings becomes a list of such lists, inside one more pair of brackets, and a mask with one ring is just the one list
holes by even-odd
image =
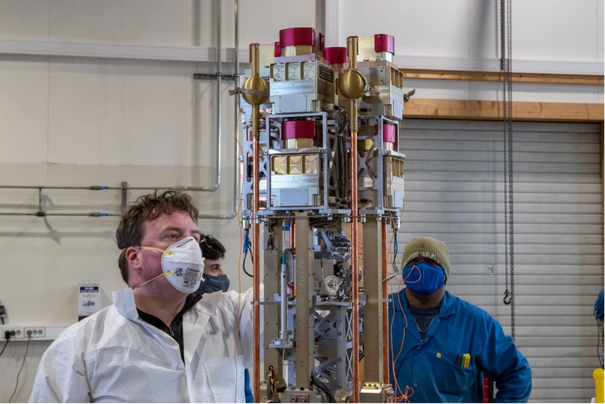
[[183, 315], [185, 363], [171, 336], [139, 319], [131, 288], [114, 292], [113, 300], [51, 344], [30, 402], [246, 401], [244, 369], [253, 366], [251, 289], [204, 294]]

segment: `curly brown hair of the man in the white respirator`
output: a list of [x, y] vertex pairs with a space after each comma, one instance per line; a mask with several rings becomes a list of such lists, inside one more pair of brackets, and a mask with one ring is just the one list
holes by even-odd
[[[191, 196], [180, 191], [164, 191], [158, 194], [155, 190], [151, 194], [137, 198], [122, 215], [120, 224], [116, 230], [117, 247], [124, 250], [128, 247], [140, 245], [143, 236], [143, 225], [145, 222], [157, 219], [162, 214], [172, 214], [175, 211], [188, 213], [197, 224], [198, 210], [191, 201]], [[122, 279], [128, 284], [128, 261], [126, 251], [120, 253], [117, 260]]]

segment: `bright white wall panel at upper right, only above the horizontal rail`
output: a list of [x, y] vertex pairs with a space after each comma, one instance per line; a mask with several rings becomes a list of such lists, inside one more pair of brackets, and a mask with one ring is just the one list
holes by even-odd
[[[497, 0], [340, 0], [338, 42], [390, 33], [399, 55], [500, 57]], [[361, 12], [362, 11], [362, 12]], [[603, 61], [602, 0], [513, 0], [512, 58]]]

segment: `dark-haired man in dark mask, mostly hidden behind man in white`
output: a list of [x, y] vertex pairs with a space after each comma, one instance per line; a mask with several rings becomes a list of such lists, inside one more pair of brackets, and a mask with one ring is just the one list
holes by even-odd
[[[234, 290], [229, 290], [229, 277], [223, 271], [223, 259], [227, 250], [223, 243], [211, 234], [201, 234], [200, 237], [201, 255], [204, 257], [204, 282], [200, 285], [200, 293], [214, 293], [218, 291], [235, 294]], [[253, 403], [254, 396], [250, 388], [250, 372], [244, 369], [244, 380], [238, 380], [244, 383], [244, 393], [246, 394], [246, 403]]]

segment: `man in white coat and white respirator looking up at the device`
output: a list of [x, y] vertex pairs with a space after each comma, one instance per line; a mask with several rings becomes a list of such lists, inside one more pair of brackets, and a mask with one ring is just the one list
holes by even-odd
[[30, 402], [244, 402], [251, 292], [194, 293], [203, 270], [197, 216], [177, 191], [126, 210], [116, 239], [129, 288], [52, 343]]

